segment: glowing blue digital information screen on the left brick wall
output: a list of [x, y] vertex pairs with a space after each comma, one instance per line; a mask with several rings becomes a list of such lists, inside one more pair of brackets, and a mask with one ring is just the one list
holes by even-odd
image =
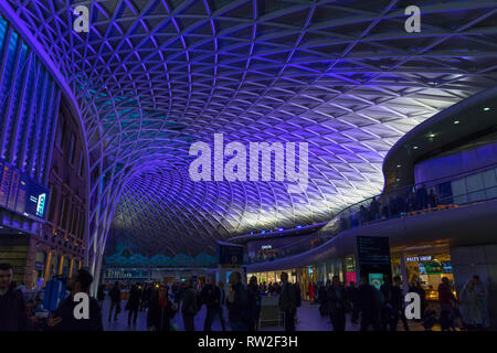
[[0, 160], [0, 207], [44, 218], [47, 200], [49, 189]]

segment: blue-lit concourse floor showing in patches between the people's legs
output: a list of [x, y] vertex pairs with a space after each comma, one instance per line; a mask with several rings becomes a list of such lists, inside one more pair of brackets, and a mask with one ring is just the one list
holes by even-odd
[[[147, 312], [140, 311], [138, 312], [138, 319], [136, 327], [128, 327], [128, 311], [125, 311], [124, 308], [126, 306], [126, 300], [121, 301], [123, 311], [118, 314], [117, 321], [108, 322], [108, 311], [110, 308], [110, 300], [106, 299], [104, 301], [103, 310], [102, 310], [102, 322], [105, 331], [146, 331], [147, 330]], [[230, 325], [228, 323], [228, 309], [223, 307], [224, 311], [224, 320], [226, 322], [226, 331], [231, 331]], [[318, 306], [310, 304], [308, 301], [302, 302], [302, 307], [297, 310], [298, 322], [295, 325], [296, 331], [331, 331], [332, 327], [329, 322], [329, 318], [321, 318], [319, 314]], [[114, 319], [114, 318], [113, 318]], [[195, 317], [195, 331], [203, 330], [203, 321], [205, 319], [205, 306], [202, 306], [202, 309]], [[177, 313], [172, 319], [172, 323], [179, 329], [179, 331], [184, 331], [183, 322], [181, 313]], [[410, 329], [412, 331], [424, 331], [424, 328], [415, 322], [409, 322]], [[404, 331], [402, 323], [399, 321], [399, 331]], [[437, 331], [435, 327], [433, 329]], [[218, 318], [214, 319], [212, 324], [212, 331], [222, 331], [221, 322]], [[262, 328], [260, 331], [284, 331], [283, 327], [267, 327]], [[352, 324], [350, 322], [350, 315], [347, 315], [347, 324], [346, 331], [359, 331], [359, 324]]]

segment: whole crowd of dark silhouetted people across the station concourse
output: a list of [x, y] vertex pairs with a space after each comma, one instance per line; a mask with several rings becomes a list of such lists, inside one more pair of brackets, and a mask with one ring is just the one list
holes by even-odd
[[[230, 325], [232, 331], [256, 331], [261, 317], [263, 296], [277, 296], [279, 312], [283, 314], [286, 331], [294, 331], [297, 322], [297, 308], [300, 307], [300, 287], [288, 281], [288, 275], [281, 275], [279, 284], [257, 284], [254, 276], [245, 286], [240, 272], [234, 271], [229, 277], [229, 290], [224, 284], [215, 284], [209, 277], [205, 282], [197, 282], [189, 278], [183, 282], [171, 285], [129, 284], [113, 286], [102, 285], [96, 298], [89, 297], [89, 319], [77, 320], [73, 300], [76, 293], [89, 295], [93, 282], [92, 275], [86, 269], [80, 269], [67, 282], [67, 297], [59, 303], [55, 311], [41, 319], [36, 311], [43, 311], [40, 297], [25, 302], [21, 290], [12, 285], [12, 266], [0, 264], [0, 331], [102, 331], [103, 302], [106, 296], [110, 299], [108, 321], [118, 320], [121, 304], [123, 287], [129, 286], [129, 296], [125, 306], [128, 311], [128, 325], [136, 325], [139, 311], [146, 311], [147, 330], [175, 331], [172, 323], [176, 314], [181, 314], [186, 331], [195, 331], [195, 317], [205, 306], [203, 331], [211, 331], [214, 320], [219, 320], [223, 331]], [[416, 292], [421, 299], [421, 318], [419, 322], [431, 330], [438, 322], [441, 329], [484, 330], [489, 325], [488, 292], [486, 285], [474, 276], [461, 290], [458, 299], [447, 278], [438, 286], [440, 318], [434, 310], [427, 309], [424, 289], [420, 282], [409, 286], [410, 292]], [[359, 324], [361, 331], [395, 331], [399, 321], [405, 331], [410, 330], [404, 310], [402, 281], [399, 276], [390, 280], [383, 278], [379, 289], [361, 278], [359, 286], [350, 282], [345, 286], [338, 276], [326, 284], [310, 284], [307, 288], [310, 302], [319, 304], [322, 317], [329, 317], [334, 331], [346, 330], [346, 318], [350, 314], [351, 323]], [[224, 308], [228, 310], [228, 322], [224, 319]], [[360, 321], [360, 322], [359, 322]]]

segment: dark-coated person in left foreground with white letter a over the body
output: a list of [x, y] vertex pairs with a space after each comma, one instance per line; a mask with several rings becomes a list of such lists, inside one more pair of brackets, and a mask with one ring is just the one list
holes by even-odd
[[47, 320], [49, 331], [103, 331], [102, 312], [98, 301], [89, 297], [88, 318], [77, 319], [74, 313], [75, 307], [78, 304], [74, 301], [77, 293], [86, 293], [89, 296], [89, 286], [93, 282], [93, 276], [86, 269], [80, 269], [71, 279], [67, 289], [71, 295], [59, 304], [57, 309]]

